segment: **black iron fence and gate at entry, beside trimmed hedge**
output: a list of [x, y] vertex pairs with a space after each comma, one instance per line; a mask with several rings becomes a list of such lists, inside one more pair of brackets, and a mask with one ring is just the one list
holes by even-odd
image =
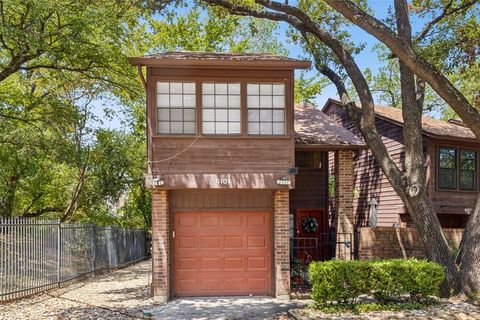
[[353, 259], [351, 233], [321, 233], [317, 237], [290, 238], [292, 289], [308, 290], [308, 265], [312, 261]]

